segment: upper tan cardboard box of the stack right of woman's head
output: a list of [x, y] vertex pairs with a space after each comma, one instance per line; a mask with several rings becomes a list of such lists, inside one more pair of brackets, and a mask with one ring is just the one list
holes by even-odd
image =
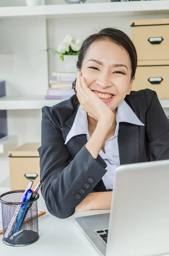
[[169, 19], [131, 20], [138, 60], [169, 60]]

